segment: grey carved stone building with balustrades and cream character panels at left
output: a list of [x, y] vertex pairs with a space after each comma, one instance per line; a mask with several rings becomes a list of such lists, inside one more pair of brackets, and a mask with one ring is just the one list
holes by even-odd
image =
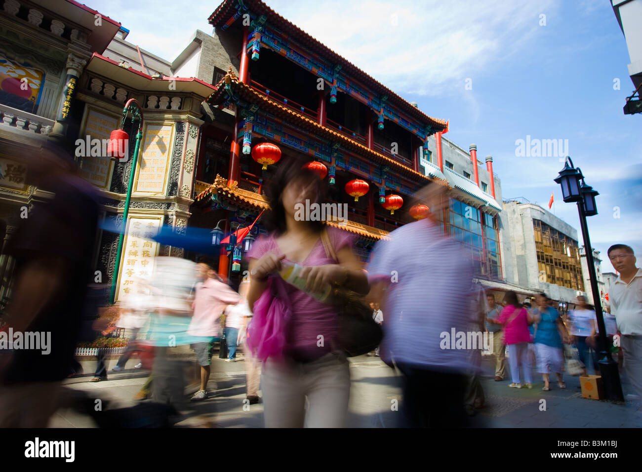
[[[0, 11], [0, 229], [10, 238], [21, 214], [46, 195], [26, 185], [28, 165], [17, 155], [38, 152], [43, 140], [75, 148], [82, 177], [102, 194], [102, 216], [123, 225], [128, 182], [133, 180], [123, 256], [116, 267], [117, 234], [101, 231], [94, 250], [96, 281], [116, 278], [116, 297], [133, 277], [147, 277], [158, 255], [183, 256], [146, 239], [160, 225], [184, 231], [189, 218], [201, 103], [211, 80], [174, 74], [187, 58], [168, 62], [125, 38], [121, 24], [73, 0], [6, 0]], [[26, 87], [21, 89], [22, 84]], [[134, 98], [143, 113], [139, 164], [112, 161], [110, 132], [125, 128], [123, 106]], [[24, 162], [24, 159], [22, 159]], [[24, 218], [24, 216], [22, 216]], [[52, 248], [55, 251], [55, 248]], [[13, 261], [0, 258], [0, 300], [10, 295]]]

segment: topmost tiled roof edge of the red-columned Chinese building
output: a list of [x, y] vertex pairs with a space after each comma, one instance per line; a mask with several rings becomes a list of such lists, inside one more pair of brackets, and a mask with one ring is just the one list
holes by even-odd
[[[352, 62], [338, 55], [332, 49], [325, 46], [325, 44], [306, 33], [306, 31], [303, 31], [298, 26], [279, 15], [279, 13], [272, 10], [272, 8], [261, 0], [244, 0], [244, 3], [248, 8], [254, 10], [254, 12], [265, 15], [268, 21], [277, 24], [282, 28], [284, 33], [297, 37], [302, 44], [308, 46], [312, 51], [319, 53], [321, 56], [328, 58], [336, 64], [341, 64], [345, 71], [348, 71], [349, 74], [360, 79], [367, 87], [379, 92], [381, 95], [388, 96], [388, 100], [395, 103], [395, 105], [404, 110], [404, 112], [437, 128], [446, 128], [446, 120], [431, 118], [412, 105], [409, 101], [404, 100], [404, 98], [401, 98], [401, 96], [388, 89], [388, 87], [383, 85], [383, 83], [378, 82], [369, 74], [362, 71], [359, 67], [352, 64]], [[214, 27], [222, 26], [234, 12], [236, 12], [236, 0], [225, 0], [218, 6], [218, 8], [216, 8], [216, 10], [214, 10], [214, 13], [210, 15], [209, 23]]]

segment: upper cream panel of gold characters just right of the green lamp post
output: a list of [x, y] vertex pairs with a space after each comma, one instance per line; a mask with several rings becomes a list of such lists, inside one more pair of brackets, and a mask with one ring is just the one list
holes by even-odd
[[147, 195], [164, 195], [168, 166], [171, 161], [172, 134], [172, 125], [149, 125], [147, 127], [135, 192]]

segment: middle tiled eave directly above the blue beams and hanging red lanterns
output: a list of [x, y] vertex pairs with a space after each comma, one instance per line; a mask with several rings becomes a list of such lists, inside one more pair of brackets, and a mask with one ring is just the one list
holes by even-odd
[[313, 121], [308, 117], [302, 114], [299, 114], [294, 110], [291, 110], [288, 107], [284, 107], [280, 103], [270, 100], [268, 96], [261, 94], [260, 92], [257, 92], [246, 83], [239, 82], [238, 78], [236, 77], [236, 74], [234, 74], [231, 70], [228, 71], [228, 73], [225, 74], [225, 76], [220, 80], [220, 82], [216, 84], [217, 89], [207, 99], [208, 102], [216, 104], [217, 102], [220, 103], [221, 101], [225, 100], [225, 98], [227, 98], [225, 96], [226, 94], [225, 87], [224, 86], [221, 87], [223, 83], [229, 83], [233, 91], [237, 92], [240, 96], [242, 96], [246, 100], [252, 101], [252, 103], [256, 103], [259, 106], [263, 106], [265, 109], [269, 109], [271, 112], [278, 114], [282, 118], [296, 119], [297, 121], [299, 121], [299, 124], [302, 125], [304, 128], [310, 131], [313, 131], [317, 134], [323, 135], [324, 137], [327, 137], [328, 139], [331, 139], [333, 141], [338, 141], [342, 143], [345, 148], [351, 149], [352, 151], [357, 152], [360, 155], [363, 155], [364, 157], [374, 158], [375, 161], [380, 162], [381, 164], [387, 164], [392, 168], [394, 168], [395, 170], [403, 172], [406, 175], [409, 175], [414, 179], [417, 179], [417, 181], [420, 183], [425, 180], [428, 180], [428, 181], [434, 181], [442, 185], [447, 185], [447, 182], [445, 180], [433, 179], [431, 177], [427, 177], [421, 172], [417, 172], [416, 170], [408, 166], [404, 166], [404, 164], [401, 164], [401, 162], [397, 162], [394, 159], [390, 159], [390, 157], [386, 155], [376, 152], [368, 148], [367, 146], [364, 146], [363, 144], [358, 143], [357, 141], [354, 141], [349, 137], [332, 130], [331, 128], [323, 127], [319, 125], [316, 121]]

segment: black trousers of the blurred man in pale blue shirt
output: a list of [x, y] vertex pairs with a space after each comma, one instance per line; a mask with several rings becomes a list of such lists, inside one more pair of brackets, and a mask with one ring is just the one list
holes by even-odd
[[464, 396], [468, 378], [429, 367], [397, 365], [404, 375], [401, 410], [406, 428], [462, 428], [468, 417]]

